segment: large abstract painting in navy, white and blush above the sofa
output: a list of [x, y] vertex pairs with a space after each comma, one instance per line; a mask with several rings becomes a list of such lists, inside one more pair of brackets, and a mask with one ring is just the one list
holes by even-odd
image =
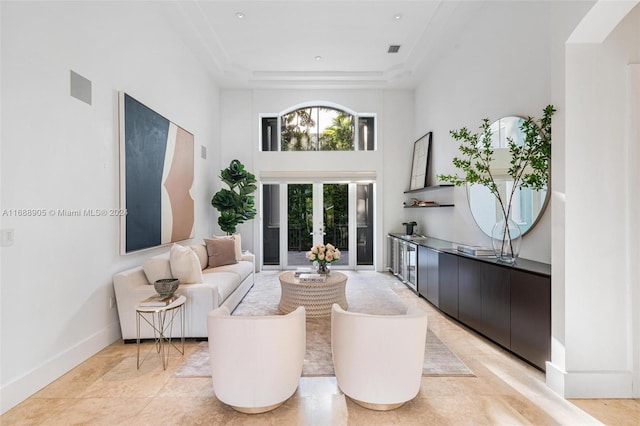
[[121, 251], [193, 238], [193, 135], [120, 93]]

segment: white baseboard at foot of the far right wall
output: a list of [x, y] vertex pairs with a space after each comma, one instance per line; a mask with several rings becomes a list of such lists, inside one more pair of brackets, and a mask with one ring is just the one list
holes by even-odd
[[547, 362], [546, 383], [564, 398], [633, 398], [632, 371], [563, 371]]

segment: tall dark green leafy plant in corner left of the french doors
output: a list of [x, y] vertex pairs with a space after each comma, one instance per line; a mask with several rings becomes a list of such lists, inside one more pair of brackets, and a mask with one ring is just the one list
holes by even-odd
[[220, 171], [220, 179], [229, 186], [216, 192], [211, 205], [219, 212], [218, 225], [228, 235], [236, 232], [237, 225], [256, 216], [253, 192], [257, 189], [256, 177], [245, 170], [244, 165], [233, 160]]

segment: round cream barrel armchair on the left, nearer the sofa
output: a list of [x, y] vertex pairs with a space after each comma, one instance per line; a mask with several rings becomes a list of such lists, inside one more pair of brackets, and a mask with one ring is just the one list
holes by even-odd
[[298, 388], [306, 348], [305, 309], [287, 315], [208, 314], [211, 376], [216, 397], [243, 413], [273, 410]]

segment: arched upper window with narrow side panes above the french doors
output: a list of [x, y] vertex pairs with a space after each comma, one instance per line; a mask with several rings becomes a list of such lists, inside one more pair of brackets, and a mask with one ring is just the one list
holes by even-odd
[[375, 115], [330, 104], [261, 115], [262, 151], [373, 151]]

